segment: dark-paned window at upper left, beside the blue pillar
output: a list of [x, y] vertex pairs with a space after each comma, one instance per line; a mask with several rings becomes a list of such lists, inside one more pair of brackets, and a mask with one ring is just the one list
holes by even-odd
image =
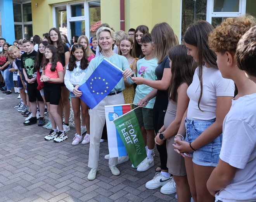
[[33, 36], [31, 2], [14, 2], [13, 13], [15, 39]]

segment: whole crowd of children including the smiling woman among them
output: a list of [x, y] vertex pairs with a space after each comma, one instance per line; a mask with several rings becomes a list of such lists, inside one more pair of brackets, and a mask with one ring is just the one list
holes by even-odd
[[[97, 174], [104, 105], [134, 104], [134, 109], [140, 106], [135, 114], [147, 157], [137, 168], [131, 166], [140, 172], [154, 166], [155, 144], [160, 156], [146, 188], [176, 192], [181, 202], [191, 197], [194, 202], [256, 201], [253, 17], [228, 18], [215, 29], [196, 22], [187, 28], [183, 45], [164, 22], [151, 33], [139, 25], [128, 34], [101, 24], [91, 46], [86, 36], [74, 36], [71, 46], [56, 28], [43, 40], [38, 37], [13, 46], [0, 39], [0, 90], [12, 93], [13, 76], [21, 97], [14, 108], [27, 117], [23, 124], [50, 129], [45, 140], [57, 143], [68, 138], [71, 98], [72, 145], [90, 143], [88, 180]], [[78, 87], [104, 58], [124, 70], [124, 79], [89, 115]], [[128, 160], [105, 158], [113, 175], [120, 174], [116, 165]]]

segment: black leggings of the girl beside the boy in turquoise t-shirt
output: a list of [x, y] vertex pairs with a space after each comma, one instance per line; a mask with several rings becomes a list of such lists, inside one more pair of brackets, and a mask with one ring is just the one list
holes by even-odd
[[[156, 102], [153, 108], [153, 123], [154, 129], [157, 134], [159, 129], [164, 125], [164, 116], [166, 109], [168, 107], [168, 92], [157, 90]], [[160, 163], [162, 170], [168, 170], [167, 168], [167, 150], [166, 150], [166, 140], [162, 145], [156, 145], [157, 151], [160, 156]]]

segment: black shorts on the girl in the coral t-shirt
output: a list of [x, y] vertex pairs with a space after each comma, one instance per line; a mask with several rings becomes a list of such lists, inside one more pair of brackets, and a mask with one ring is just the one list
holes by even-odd
[[51, 105], [59, 105], [61, 98], [61, 83], [43, 83], [43, 93], [45, 102], [50, 102]]

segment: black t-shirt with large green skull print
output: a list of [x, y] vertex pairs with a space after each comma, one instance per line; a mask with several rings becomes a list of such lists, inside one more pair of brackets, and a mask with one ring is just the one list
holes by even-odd
[[36, 77], [35, 59], [37, 52], [34, 50], [32, 53], [23, 53], [21, 55], [21, 67], [25, 69], [29, 79]]

